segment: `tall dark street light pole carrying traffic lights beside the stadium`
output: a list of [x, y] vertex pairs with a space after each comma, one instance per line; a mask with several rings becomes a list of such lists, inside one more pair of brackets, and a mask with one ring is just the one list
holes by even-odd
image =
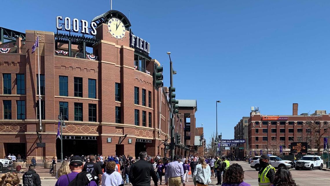
[[[170, 58], [170, 83], [171, 88], [173, 87], [173, 66], [172, 66], [172, 60], [171, 60], [171, 52], [166, 52], [168, 54], [168, 57]], [[176, 72], [175, 72], [176, 74]], [[171, 158], [174, 159], [174, 106], [172, 104], [172, 95], [170, 91], [170, 106], [172, 110], [172, 118], [171, 118]]]

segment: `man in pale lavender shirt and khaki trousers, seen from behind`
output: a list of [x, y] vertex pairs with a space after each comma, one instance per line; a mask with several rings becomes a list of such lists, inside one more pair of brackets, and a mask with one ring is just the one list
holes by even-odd
[[165, 185], [168, 186], [180, 186], [181, 183], [185, 186], [184, 183], [184, 171], [183, 166], [180, 161], [179, 155], [174, 155], [174, 161], [166, 165], [165, 171]]

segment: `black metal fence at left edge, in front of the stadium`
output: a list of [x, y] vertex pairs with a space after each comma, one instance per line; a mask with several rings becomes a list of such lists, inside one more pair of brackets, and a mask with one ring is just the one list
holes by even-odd
[[[22, 164], [22, 165], [13, 165], [13, 164], [3, 164], [0, 165], [0, 173], [5, 172], [16, 172], [16, 173], [24, 173], [29, 170], [30, 165]], [[50, 173], [53, 165], [36, 165], [35, 171], [37, 173]]]

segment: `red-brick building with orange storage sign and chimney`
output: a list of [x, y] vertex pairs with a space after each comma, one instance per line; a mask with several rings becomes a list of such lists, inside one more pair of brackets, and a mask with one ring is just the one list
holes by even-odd
[[[315, 123], [316, 125], [313, 125], [315, 129], [311, 129], [308, 122]], [[244, 127], [244, 125], [241, 126]], [[260, 155], [260, 150], [263, 153], [279, 154], [279, 146], [283, 146], [283, 155], [291, 155], [291, 142], [307, 142], [308, 154], [314, 154], [317, 152], [317, 145], [315, 141], [315, 144], [312, 143], [311, 133], [313, 132], [321, 136], [320, 150], [322, 152], [324, 150], [323, 137], [327, 137], [329, 128], [330, 115], [326, 114], [325, 110], [317, 110], [311, 115], [307, 113], [298, 115], [297, 103], [293, 104], [292, 115], [262, 115], [258, 110], [254, 110], [248, 118], [248, 154], [240, 154], [240, 156], [245, 157], [250, 151], [252, 156]], [[239, 130], [242, 129], [236, 127], [235, 129], [235, 137], [241, 138], [238, 135]], [[235, 154], [235, 151], [233, 153]]]

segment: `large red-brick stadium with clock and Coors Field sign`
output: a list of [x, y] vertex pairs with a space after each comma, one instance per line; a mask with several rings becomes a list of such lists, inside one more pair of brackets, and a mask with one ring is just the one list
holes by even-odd
[[[108, 22], [113, 19], [121, 21], [115, 24], [116, 29], [123, 27], [121, 39], [111, 35]], [[60, 113], [66, 125], [64, 157], [96, 153], [137, 156], [140, 151], [168, 156], [169, 151], [164, 150], [164, 141], [169, 138], [168, 89], [155, 88], [154, 71], [160, 63], [149, 57], [149, 43], [132, 34], [129, 20], [118, 11], [108, 11], [92, 22], [96, 34], [90, 37], [72, 34], [73, 28], [69, 34], [63, 33], [64, 23], [57, 23], [55, 33], [1, 28], [2, 157], [15, 153], [27, 160], [60, 159], [60, 141], [56, 139]], [[42, 131], [38, 52], [31, 53], [37, 35]], [[176, 127], [182, 126], [177, 132], [183, 136], [180, 121], [183, 117], [177, 114]], [[45, 147], [37, 147], [39, 142]], [[185, 148], [182, 144], [176, 152], [183, 155]]]

